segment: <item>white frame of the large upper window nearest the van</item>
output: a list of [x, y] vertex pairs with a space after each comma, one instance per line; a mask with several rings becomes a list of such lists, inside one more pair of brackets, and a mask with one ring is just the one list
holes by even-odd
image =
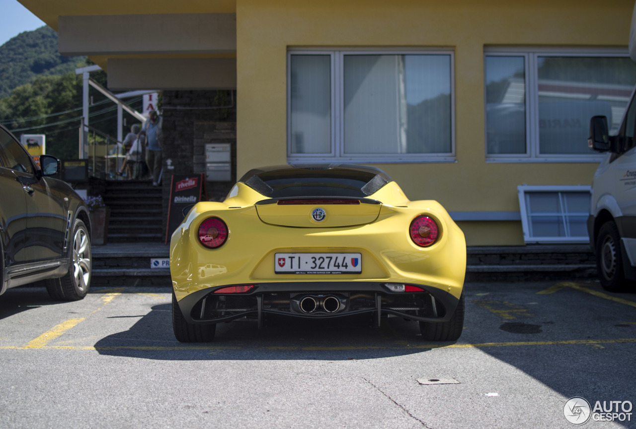
[[[486, 120], [486, 57], [487, 56], [523, 56], [525, 65], [525, 154], [488, 154], [488, 130]], [[539, 91], [537, 58], [539, 56], [598, 56], [626, 57], [629, 52], [623, 48], [485, 48], [483, 55], [484, 70], [484, 153], [486, 162], [601, 162], [604, 154], [540, 154], [539, 153]], [[628, 105], [625, 106], [625, 110]], [[585, 126], [585, 125], [584, 125]], [[585, 146], [587, 142], [581, 142]]]

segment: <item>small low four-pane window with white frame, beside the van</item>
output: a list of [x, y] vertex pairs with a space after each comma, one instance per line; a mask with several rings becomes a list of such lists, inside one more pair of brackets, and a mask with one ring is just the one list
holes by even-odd
[[517, 187], [527, 243], [589, 242], [590, 187]]

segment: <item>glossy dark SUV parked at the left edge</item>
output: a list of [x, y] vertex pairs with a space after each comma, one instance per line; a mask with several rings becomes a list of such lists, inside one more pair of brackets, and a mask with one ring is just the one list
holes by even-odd
[[81, 300], [90, 287], [88, 208], [62, 180], [59, 161], [40, 168], [0, 125], [0, 295], [42, 281], [57, 300]]

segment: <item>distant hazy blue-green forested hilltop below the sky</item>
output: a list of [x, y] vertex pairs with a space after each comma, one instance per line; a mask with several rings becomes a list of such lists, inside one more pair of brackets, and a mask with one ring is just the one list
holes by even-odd
[[83, 56], [62, 56], [57, 51], [57, 33], [46, 25], [25, 31], [0, 46], [0, 98], [31, 82], [36, 76], [70, 72]]

